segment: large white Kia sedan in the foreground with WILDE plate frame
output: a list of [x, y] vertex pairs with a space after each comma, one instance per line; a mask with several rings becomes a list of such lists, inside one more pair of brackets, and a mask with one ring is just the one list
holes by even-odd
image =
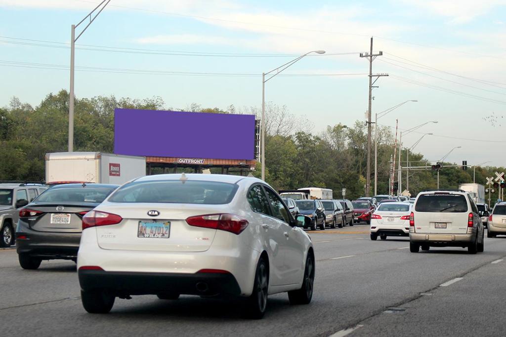
[[145, 176], [120, 186], [82, 219], [81, 300], [107, 313], [116, 297], [238, 296], [264, 315], [267, 296], [313, 295], [313, 244], [272, 187], [217, 174]]

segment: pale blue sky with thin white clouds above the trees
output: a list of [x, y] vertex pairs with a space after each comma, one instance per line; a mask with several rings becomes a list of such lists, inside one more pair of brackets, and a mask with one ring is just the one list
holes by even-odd
[[[33, 106], [69, 89], [70, 27], [98, 0], [0, 0], [0, 106]], [[82, 31], [87, 21], [77, 27]], [[192, 103], [226, 110], [261, 107], [262, 76], [315, 50], [266, 83], [266, 101], [312, 123], [365, 123], [368, 61], [372, 116], [429, 160], [505, 166], [506, 0], [276, 2], [111, 0], [79, 37], [78, 98], [160, 96], [167, 108]]]

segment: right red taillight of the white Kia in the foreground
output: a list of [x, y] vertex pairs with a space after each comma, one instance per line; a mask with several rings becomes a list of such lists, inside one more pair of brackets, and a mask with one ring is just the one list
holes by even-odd
[[249, 222], [235, 214], [207, 214], [192, 216], [186, 219], [190, 226], [225, 230], [240, 234]]

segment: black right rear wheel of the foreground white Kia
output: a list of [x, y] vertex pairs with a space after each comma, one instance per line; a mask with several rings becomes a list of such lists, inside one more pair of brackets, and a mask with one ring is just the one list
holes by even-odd
[[264, 317], [267, 308], [267, 290], [269, 287], [269, 268], [267, 261], [260, 258], [255, 272], [255, 282], [253, 283], [253, 292], [246, 299], [244, 315], [247, 318], [260, 319]]

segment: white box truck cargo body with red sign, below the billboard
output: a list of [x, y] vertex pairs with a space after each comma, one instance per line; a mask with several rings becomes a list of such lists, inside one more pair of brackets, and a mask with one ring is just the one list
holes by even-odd
[[122, 184], [146, 175], [146, 158], [102, 152], [46, 154], [46, 183], [62, 181]]

